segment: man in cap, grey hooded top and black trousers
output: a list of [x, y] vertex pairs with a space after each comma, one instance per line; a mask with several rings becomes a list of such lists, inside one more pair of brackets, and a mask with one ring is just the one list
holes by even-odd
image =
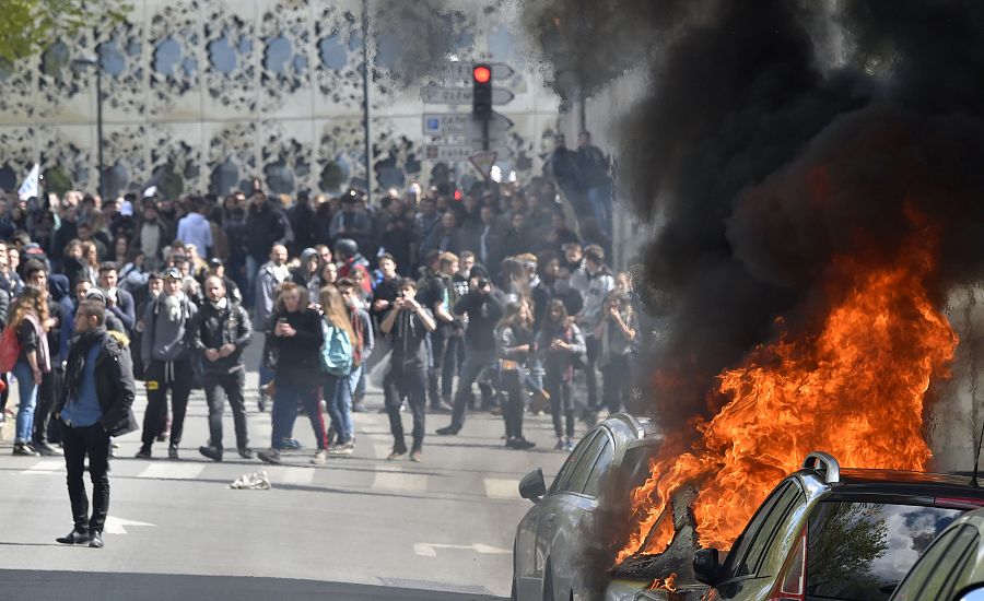
[[139, 459], [151, 458], [151, 446], [160, 431], [162, 406], [172, 393], [169, 459], [178, 459], [178, 446], [185, 425], [185, 411], [191, 393], [189, 328], [197, 309], [181, 292], [181, 272], [168, 268], [164, 272], [164, 291], [148, 304], [143, 316], [144, 331], [140, 354], [144, 365], [147, 413], [143, 416], [142, 446]]

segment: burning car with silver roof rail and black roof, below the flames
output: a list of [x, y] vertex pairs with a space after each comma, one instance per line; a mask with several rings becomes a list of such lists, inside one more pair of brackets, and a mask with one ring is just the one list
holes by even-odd
[[713, 547], [696, 551], [698, 582], [680, 586], [659, 555], [635, 555], [614, 570], [607, 599], [699, 599], [712, 589], [710, 597], [719, 599], [885, 600], [937, 534], [981, 506], [984, 490], [967, 476], [842, 470], [833, 457], [812, 452], [724, 556]]

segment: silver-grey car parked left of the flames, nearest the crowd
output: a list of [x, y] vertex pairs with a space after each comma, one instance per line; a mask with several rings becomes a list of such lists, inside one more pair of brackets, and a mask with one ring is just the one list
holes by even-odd
[[601, 483], [614, 468], [648, 474], [648, 458], [663, 436], [648, 420], [617, 413], [595, 426], [574, 448], [550, 490], [542, 470], [519, 483], [519, 495], [534, 502], [516, 529], [513, 599], [585, 599], [582, 553], [598, 506]]

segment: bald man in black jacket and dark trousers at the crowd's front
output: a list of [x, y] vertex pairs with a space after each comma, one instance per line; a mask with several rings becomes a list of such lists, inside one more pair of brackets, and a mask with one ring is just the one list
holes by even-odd
[[204, 355], [202, 388], [209, 403], [209, 446], [199, 447], [201, 455], [222, 461], [222, 412], [225, 399], [233, 410], [236, 426], [236, 448], [239, 457], [253, 458], [246, 435], [246, 404], [243, 389], [246, 366], [243, 350], [253, 339], [249, 315], [226, 295], [225, 283], [216, 275], [206, 278], [207, 302], [199, 309], [191, 328], [195, 350]]

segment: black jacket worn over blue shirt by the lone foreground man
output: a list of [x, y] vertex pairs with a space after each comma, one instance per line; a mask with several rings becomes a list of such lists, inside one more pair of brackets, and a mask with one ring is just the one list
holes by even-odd
[[[95, 364], [96, 397], [103, 412], [99, 423], [109, 436], [122, 436], [139, 429], [132, 410], [137, 388], [130, 352], [113, 334], [104, 335], [101, 344]], [[61, 413], [67, 401], [67, 393], [62, 392], [55, 408], [56, 415]]]

